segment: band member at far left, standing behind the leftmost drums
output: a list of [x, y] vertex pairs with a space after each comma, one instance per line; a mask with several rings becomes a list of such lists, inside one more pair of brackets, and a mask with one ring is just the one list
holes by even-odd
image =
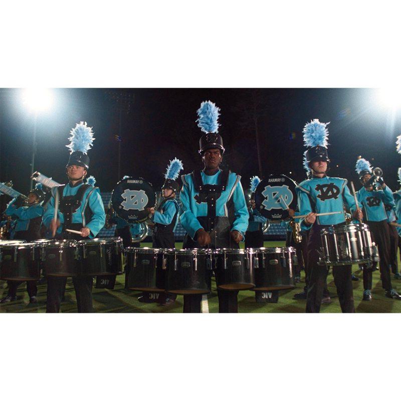
[[[42, 184], [36, 184], [35, 188], [28, 194], [28, 205], [24, 206], [24, 201], [14, 198], [7, 206], [5, 214], [16, 219], [14, 240], [25, 240], [32, 242], [41, 239], [42, 216], [44, 214], [43, 200], [45, 193], [42, 190]], [[21, 281], [9, 280], [9, 292], [0, 303], [6, 303], [17, 300], [17, 288]], [[37, 282], [27, 281], [27, 292], [29, 303], [37, 303], [36, 295], [38, 293]]]

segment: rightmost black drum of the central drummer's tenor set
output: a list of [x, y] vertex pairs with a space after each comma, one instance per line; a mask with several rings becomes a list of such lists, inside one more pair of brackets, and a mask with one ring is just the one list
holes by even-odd
[[295, 288], [295, 248], [254, 248], [255, 291], [288, 290]]

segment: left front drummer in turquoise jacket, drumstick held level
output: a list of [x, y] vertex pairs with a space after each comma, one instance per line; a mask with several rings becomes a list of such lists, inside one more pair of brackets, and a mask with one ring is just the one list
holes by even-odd
[[[92, 128], [86, 123], [77, 124], [70, 132], [71, 154], [66, 166], [69, 182], [52, 188], [52, 197], [43, 216], [43, 224], [53, 236], [60, 239], [92, 239], [105, 224], [105, 212], [99, 188], [84, 183], [89, 169], [88, 150], [94, 140]], [[54, 220], [55, 195], [59, 194], [59, 210]], [[79, 231], [71, 234], [66, 230]], [[65, 277], [48, 276], [46, 312], [59, 312], [62, 294], [66, 286]], [[73, 277], [78, 312], [92, 312], [92, 276]]]

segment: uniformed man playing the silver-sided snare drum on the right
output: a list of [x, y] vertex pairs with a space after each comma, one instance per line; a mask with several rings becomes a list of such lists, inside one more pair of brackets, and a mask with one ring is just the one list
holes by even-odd
[[[307, 123], [303, 129], [304, 142], [309, 147], [305, 153], [312, 177], [302, 181], [297, 187], [298, 208], [301, 215], [301, 230], [310, 230], [308, 240], [308, 267], [309, 283], [306, 299], [306, 312], [319, 312], [323, 296], [324, 283], [327, 278], [327, 268], [319, 265], [319, 251], [321, 247], [320, 232], [323, 228], [345, 224], [343, 213], [344, 203], [356, 219], [362, 219], [362, 212], [356, 211], [353, 196], [347, 187], [344, 178], [328, 177], [330, 159], [327, 154], [326, 128], [328, 123], [321, 123], [318, 119]], [[318, 213], [341, 212], [338, 214], [316, 216]], [[342, 312], [355, 312], [351, 265], [333, 266], [334, 283]]]

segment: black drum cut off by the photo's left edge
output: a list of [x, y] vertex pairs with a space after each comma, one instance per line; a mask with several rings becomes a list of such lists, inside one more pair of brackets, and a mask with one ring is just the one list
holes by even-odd
[[40, 252], [35, 243], [2, 241], [0, 261], [0, 280], [36, 281], [40, 278]]

